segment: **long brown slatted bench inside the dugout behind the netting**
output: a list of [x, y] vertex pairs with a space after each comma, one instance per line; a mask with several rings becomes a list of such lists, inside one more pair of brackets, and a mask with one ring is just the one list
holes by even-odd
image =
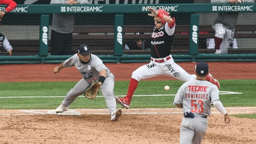
[[[123, 28], [123, 47], [130, 39], [150, 40], [152, 35], [152, 25], [124, 25]], [[173, 54], [187, 54], [189, 50], [189, 34], [178, 34], [189, 32], [189, 25], [176, 25]], [[236, 25], [234, 38], [256, 38], [256, 25]], [[136, 32], [144, 34], [134, 34]], [[214, 53], [214, 49], [206, 49], [205, 40], [214, 38], [212, 25], [200, 25], [199, 32], [210, 32], [209, 34], [199, 34], [199, 53]], [[36, 55], [39, 51], [39, 40], [9, 40], [13, 46], [13, 55]], [[49, 52], [51, 40], [49, 40]], [[74, 26], [73, 47], [75, 52], [77, 47], [85, 43], [91, 47], [94, 54], [113, 54], [114, 51], [114, 25], [95, 25], [95, 26]], [[229, 50], [229, 53], [256, 53], [256, 49]], [[149, 50], [124, 50], [125, 54], [150, 54]]]

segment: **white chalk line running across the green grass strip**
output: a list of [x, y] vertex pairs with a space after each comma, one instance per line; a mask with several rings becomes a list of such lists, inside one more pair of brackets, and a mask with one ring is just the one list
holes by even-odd
[[[233, 91], [219, 91], [219, 94], [243, 94], [241, 92], [233, 92]], [[116, 95], [115, 97], [124, 97], [125, 95]], [[148, 94], [148, 95], [133, 95], [133, 97], [157, 97], [157, 96], [175, 96], [175, 94]], [[65, 98], [66, 96], [24, 96], [24, 97], [0, 97], [0, 98]], [[82, 95], [78, 97], [84, 97]], [[97, 96], [104, 97], [104, 96]]]

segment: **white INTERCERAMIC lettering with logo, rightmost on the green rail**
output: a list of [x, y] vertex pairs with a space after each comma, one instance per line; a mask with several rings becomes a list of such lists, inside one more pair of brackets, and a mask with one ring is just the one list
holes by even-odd
[[213, 6], [213, 11], [253, 11], [254, 5], [219, 5]]

